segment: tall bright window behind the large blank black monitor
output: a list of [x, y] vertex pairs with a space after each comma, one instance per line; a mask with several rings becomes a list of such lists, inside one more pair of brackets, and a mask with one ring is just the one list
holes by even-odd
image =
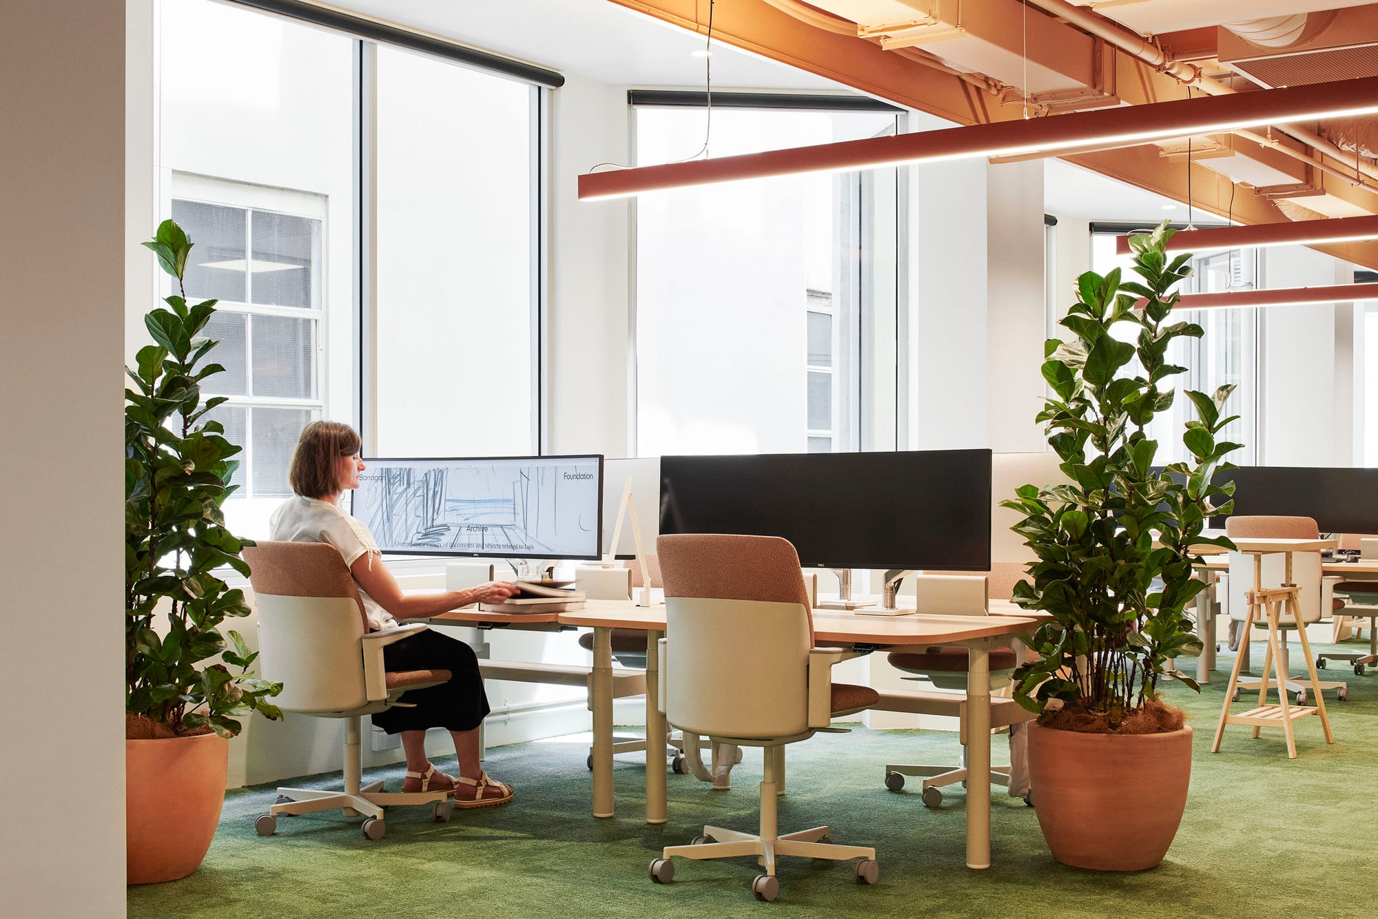
[[[718, 107], [712, 156], [893, 134], [893, 112]], [[638, 164], [690, 157], [703, 107], [637, 106]], [[883, 178], [876, 178], [881, 174]], [[893, 444], [874, 353], [896, 317], [894, 171], [803, 175], [637, 200], [637, 452], [835, 452]], [[883, 366], [871, 376], [867, 368]], [[893, 428], [893, 419], [892, 419]]]

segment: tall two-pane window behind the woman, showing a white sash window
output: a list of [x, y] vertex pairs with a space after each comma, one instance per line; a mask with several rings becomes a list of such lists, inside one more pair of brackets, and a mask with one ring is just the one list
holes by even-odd
[[247, 6], [157, 11], [158, 218], [220, 300], [230, 525], [267, 535], [317, 417], [371, 456], [537, 452], [542, 91]]

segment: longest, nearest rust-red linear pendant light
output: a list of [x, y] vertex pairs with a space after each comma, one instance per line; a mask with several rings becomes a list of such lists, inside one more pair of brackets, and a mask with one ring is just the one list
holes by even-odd
[[1348, 117], [1378, 112], [1378, 77], [1312, 83], [1218, 96], [1073, 112], [1028, 121], [768, 150], [714, 160], [666, 163], [579, 176], [579, 198], [615, 198], [692, 185], [806, 172], [850, 172], [907, 163], [1045, 153], [1089, 143], [1134, 146], [1236, 128]]

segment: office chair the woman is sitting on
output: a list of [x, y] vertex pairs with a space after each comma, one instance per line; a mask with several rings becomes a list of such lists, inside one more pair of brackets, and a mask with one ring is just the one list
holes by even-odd
[[258, 834], [271, 836], [278, 814], [340, 809], [346, 817], [364, 816], [365, 839], [382, 839], [383, 809], [394, 805], [431, 805], [437, 821], [449, 821], [455, 805], [445, 791], [389, 794], [382, 781], [361, 785], [362, 715], [405, 705], [398, 697], [408, 689], [451, 678], [448, 670], [390, 672], [383, 665], [384, 645], [426, 626], [369, 632], [358, 587], [328, 543], [263, 541], [245, 547], [244, 561], [252, 569], [260, 672], [282, 683], [274, 701], [282, 711], [344, 719], [344, 788], [278, 788], [269, 813], [254, 821]]

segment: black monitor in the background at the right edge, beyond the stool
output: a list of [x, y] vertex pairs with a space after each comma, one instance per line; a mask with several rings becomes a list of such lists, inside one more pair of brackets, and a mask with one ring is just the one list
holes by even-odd
[[1240, 466], [1214, 481], [1228, 479], [1235, 517], [1312, 517], [1322, 533], [1378, 533], [1378, 468]]

